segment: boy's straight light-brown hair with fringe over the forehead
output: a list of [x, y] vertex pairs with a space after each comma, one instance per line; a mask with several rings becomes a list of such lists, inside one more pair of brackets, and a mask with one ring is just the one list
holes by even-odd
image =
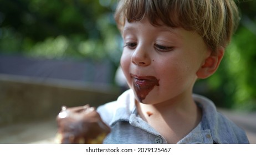
[[239, 11], [233, 0], [121, 0], [115, 12], [120, 30], [126, 21], [144, 17], [155, 26], [161, 20], [170, 27], [194, 30], [212, 51], [227, 46], [239, 23]]

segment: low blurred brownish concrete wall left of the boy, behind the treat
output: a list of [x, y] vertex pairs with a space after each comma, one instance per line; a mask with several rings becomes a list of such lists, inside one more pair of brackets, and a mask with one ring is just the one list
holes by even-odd
[[0, 74], [0, 126], [58, 115], [61, 106], [99, 106], [120, 90], [106, 84]]

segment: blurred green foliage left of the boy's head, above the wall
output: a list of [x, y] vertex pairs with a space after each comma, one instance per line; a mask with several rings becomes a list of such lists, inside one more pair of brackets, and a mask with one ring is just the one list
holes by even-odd
[[[46, 58], [109, 58], [121, 37], [111, 0], [0, 0], [0, 52]], [[97, 51], [97, 52], [96, 52]]]

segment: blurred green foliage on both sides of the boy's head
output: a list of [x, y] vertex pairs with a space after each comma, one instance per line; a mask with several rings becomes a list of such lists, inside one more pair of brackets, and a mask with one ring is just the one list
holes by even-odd
[[[256, 2], [238, 6], [241, 24], [221, 66], [195, 91], [218, 106], [256, 110]], [[115, 0], [0, 0], [0, 54], [109, 59], [117, 67], [122, 40], [115, 7]]]

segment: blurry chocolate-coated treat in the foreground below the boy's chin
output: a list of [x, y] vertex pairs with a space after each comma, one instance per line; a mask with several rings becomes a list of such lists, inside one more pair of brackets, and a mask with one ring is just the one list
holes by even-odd
[[57, 116], [57, 143], [100, 144], [110, 133], [110, 127], [94, 107], [62, 107]]

